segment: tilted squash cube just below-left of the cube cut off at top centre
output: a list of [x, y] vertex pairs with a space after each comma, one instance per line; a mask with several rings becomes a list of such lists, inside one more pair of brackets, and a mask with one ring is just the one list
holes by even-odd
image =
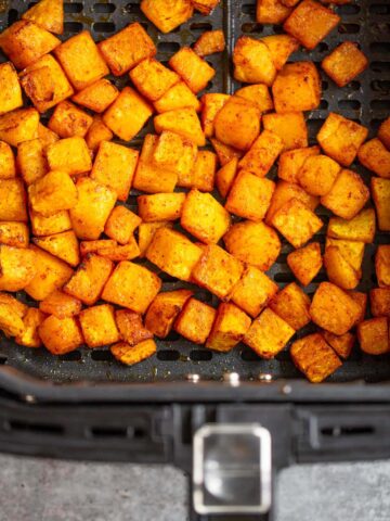
[[153, 40], [138, 22], [101, 41], [99, 50], [115, 76], [121, 76], [157, 52]]

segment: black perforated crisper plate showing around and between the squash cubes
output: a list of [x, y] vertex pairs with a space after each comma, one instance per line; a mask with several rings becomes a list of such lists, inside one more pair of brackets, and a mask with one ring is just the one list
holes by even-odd
[[[165, 62], [181, 47], [196, 41], [203, 30], [223, 28], [229, 42], [229, 49], [223, 54], [208, 56], [207, 61], [216, 68], [217, 75], [209, 85], [208, 91], [231, 92], [235, 87], [230, 79], [229, 55], [234, 47], [234, 41], [242, 35], [253, 37], [280, 33], [281, 26], [261, 26], [256, 23], [256, 0], [224, 0], [211, 16], [204, 17], [195, 14], [188, 23], [174, 31], [162, 35], [140, 11], [140, 2], [130, 3], [104, 1], [96, 2], [86, 0], [83, 2], [65, 3], [65, 33], [66, 39], [81, 29], [89, 29], [96, 41], [106, 38], [121, 29], [131, 22], [139, 21], [148, 31], [157, 45], [157, 59]], [[28, 2], [22, 0], [0, 1], [0, 29], [18, 18], [26, 11]], [[338, 43], [344, 40], [359, 42], [363, 52], [369, 59], [368, 69], [358, 80], [352, 81], [343, 89], [339, 89], [323, 73], [323, 98], [318, 110], [309, 115], [310, 137], [314, 138], [322, 122], [329, 111], [339, 112], [346, 117], [355, 119], [369, 128], [374, 135], [380, 120], [389, 114], [390, 109], [390, 3], [388, 0], [356, 0], [355, 3], [336, 8], [341, 15], [342, 22], [325, 41], [321, 42], [312, 52], [300, 51], [294, 54], [292, 61], [312, 60], [320, 64], [321, 60]], [[4, 58], [3, 58], [4, 59]], [[118, 87], [129, 81], [128, 76], [112, 78]], [[153, 131], [152, 122], [143, 129], [140, 137]], [[142, 142], [140, 137], [131, 143], [139, 147]], [[369, 174], [358, 164], [356, 169], [368, 181]], [[275, 171], [270, 177], [274, 177]], [[130, 207], [135, 203], [135, 194], [129, 198]], [[318, 215], [325, 221], [328, 213], [324, 208], [318, 209]], [[326, 226], [324, 227], [324, 229]], [[325, 241], [323, 233], [315, 237], [322, 244]], [[376, 244], [388, 242], [389, 236], [377, 233]], [[284, 243], [278, 262], [270, 270], [270, 275], [280, 285], [294, 280], [294, 276], [286, 265], [286, 255], [291, 246]], [[375, 245], [367, 245], [363, 263], [363, 277], [358, 288], [368, 291], [376, 284], [373, 255]], [[164, 289], [191, 287], [174, 281], [165, 274], [159, 274], [165, 281]], [[308, 287], [308, 293], [312, 294], [316, 284], [325, 280], [322, 271]], [[207, 292], [195, 288], [195, 296], [200, 300], [216, 303]], [[298, 335], [310, 331], [311, 326], [301, 330]], [[237, 371], [243, 379], [255, 378], [259, 372], [269, 372], [275, 378], [301, 378], [294, 367], [288, 346], [273, 360], [262, 360], [244, 345], [239, 345], [229, 354], [219, 354], [196, 346], [172, 333], [167, 340], [157, 342], [157, 355], [134, 367], [126, 367], [114, 360], [106, 348], [90, 350], [81, 348], [65, 356], [55, 357], [42, 350], [29, 350], [16, 345], [6, 339], [1, 341], [2, 364], [9, 364], [31, 376], [53, 381], [70, 380], [115, 380], [115, 381], [159, 381], [182, 380], [187, 373], [198, 373], [205, 379], [219, 379], [224, 371]], [[379, 381], [390, 377], [390, 364], [388, 357], [369, 357], [354, 348], [351, 357], [330, 378], [333, 381], [348, 381], [365, 379], [366, 381]]]

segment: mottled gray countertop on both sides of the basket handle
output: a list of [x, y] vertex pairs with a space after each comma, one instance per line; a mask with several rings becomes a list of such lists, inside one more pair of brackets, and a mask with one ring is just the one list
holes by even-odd
[[[178, 469], [0, 455], [0, 521], [185, 521]], [[276, 521], [389, 521], [390, 461], [291, 467]]]

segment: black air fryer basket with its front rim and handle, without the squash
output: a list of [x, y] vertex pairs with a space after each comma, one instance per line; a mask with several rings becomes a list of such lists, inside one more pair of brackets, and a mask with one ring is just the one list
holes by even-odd
[[[27, 8], [23, 0], [1, 2], [0, 30]], [[223, 28], [227, 50], [207, 59], [217, 71], [208, 91], [232, 92], [236, 86], [229, 56], [235, 40], [243, 34], [262, 37], [282, 31], [281, 26], [257, 24], [255, 11], [256, 0], [222, 0], [210, 16], [194, 14], [162, 35], [141, 13], [139, 1], [76, 0], [65, 3], [63, 37], [89, 29], [99, 41], [138, 21], [156, 42], [157, 59], [166, 62], [204, 30]], [[329, 111], [367, 126], [370, 136], [389, 115], [390, 2], [355, 0], [336, 11], [341, 15], [337, 29], [314, 51], [296, 52], [292, 60], [318, 65], [338, 43], [352, 40], [368, 56], [369, 67], [343, 89], [323, 74], [321, 105], [308, 122], [313, 143]], [[127, 75], [112, 79], [120, 88], [128, 81]], [[148, 131], [153, 124], [141, 138]], [[140, 144], [141, 139], [131, 143]], [[352, 168], [369, 180], [369, 173], [359, 164]], [[129, 198], [130, 208], [135, 200], [136, 194]], [[328, 212], [320, 212], [327, 223]], [[315, 239], [325, 242], [324, 234]], [[375, 244], [366, 246], [358, 290], [368, 292], [376, 285], [373, 255], [377, 244], [388, 242], [389, 236], [378, 232]], [[294, 280], [286, 264], [290, 250], [284, 243], [271, 269], [281, 287]], [[166, 290], [185, 287], [166, 274], [159, 276]], [[307, 287], [308, 293], [323, 280], [321, 271]], [[198, 288], [195, 292], [197, 298], [213, 302], [209, 293]], [[20, 297], [28, 302], [26, 295]], [[298, 334], [307, 334], [309, 328]], [[388, 356], [368, 356], [355, 347], [326, 383], [313, 385], [295, 368], [288, 347], [275, 359], [263, 360], [244, 345], [219, 354], [177, 333], [157, 346], [155, 357], [126, 367], [114, 360], [108, 348], [84, 347], [55, 357], [2, 338], [0, 449], [75, 459], [172, 462], [188, 472], [194, 466], [193, 495], [200, 513], [192, 510], [191, 519], [203, 521], [214, 519], [213, 511], [224, 511], [223, 519], [262, 519], [259, 513], [243, 514], [268, 510], [271, 466], [276, 471], [294, 461], [390, 456]], [[222, 492], [214, 487], [220, 479]], [[232, 488], [244, 492], [237, 496]], [[251, 492], [245, 494], [245, 490]], [[229, 517], [233, 511], [239, 516]]]

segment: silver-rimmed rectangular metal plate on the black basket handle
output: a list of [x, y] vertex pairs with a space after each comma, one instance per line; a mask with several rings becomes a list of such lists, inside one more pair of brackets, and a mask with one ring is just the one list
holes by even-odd
[[271, 434], [259, 423], [206, 423], [194, 435], [197, 513], [265, 513], [272, 501]]

